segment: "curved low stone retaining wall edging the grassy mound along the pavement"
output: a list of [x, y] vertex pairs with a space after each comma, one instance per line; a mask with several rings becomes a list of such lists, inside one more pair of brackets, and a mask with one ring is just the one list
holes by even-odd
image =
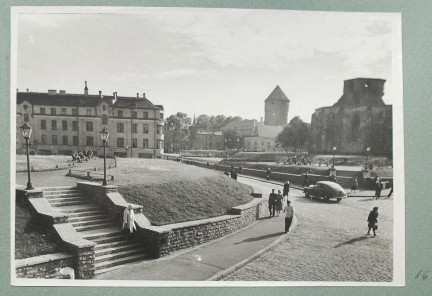
[[243, 228], [258, 219], [261, 198], [234, 207], [232, 215], [175, 223], [163, 226], [149, 226], [140, 229], [145, 244], [155, 257], [210, 242]]

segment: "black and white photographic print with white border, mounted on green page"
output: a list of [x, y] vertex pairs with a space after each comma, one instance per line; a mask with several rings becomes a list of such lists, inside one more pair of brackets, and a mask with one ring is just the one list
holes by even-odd
[[11, 7], [11, 284], [405, 286], [402, 37], [401, 13]]

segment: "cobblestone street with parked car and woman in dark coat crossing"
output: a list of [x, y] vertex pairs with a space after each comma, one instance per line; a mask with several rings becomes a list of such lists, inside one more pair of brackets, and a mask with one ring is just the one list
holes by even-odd
[[[278, 186], [240, 178], [268, 198]], [[242, 269], [229, 281], [392, 281], [393, 200], [346, 198], [340, 203], [306, 199], [291, 189], [298, 217], [289, 239]], [[378, 206], [378, 237], [368, 236], [367, 217]], [[275, 218], [276, 219], [276, 218]], [[283, 217], [281, 213], [281, 228]], [[372, 231], [371, 231], [372, 233]]]

